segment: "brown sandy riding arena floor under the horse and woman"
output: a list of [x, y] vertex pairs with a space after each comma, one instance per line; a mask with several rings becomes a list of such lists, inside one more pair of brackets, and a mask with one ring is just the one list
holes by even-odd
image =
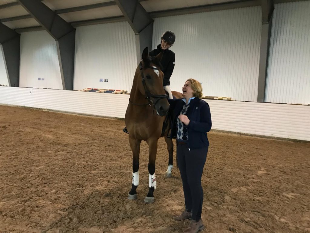
[[[148, 147], [138, 199], [124, 121], [29, 108], [1, 110], [1, 232], [182, 232], [179, 170], [164, 178], [159, 140], [155, 202]], [[309, 232], [310, 144], [211, 131], [202, 177], [204, 232]], [[175, 158], [174, 158], [175, 164]], [[189, 222], [189, 220], [187, 220]], [[186, 223], [186, 222], [185, 222]]]

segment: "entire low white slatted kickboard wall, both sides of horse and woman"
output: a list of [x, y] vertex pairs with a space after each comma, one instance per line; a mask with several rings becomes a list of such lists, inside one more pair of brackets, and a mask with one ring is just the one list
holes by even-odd
[[[32, 92], [30, 94], [30, 91]], [[129, 95], [0, 87], [0, 104], [124, 118]], [[310, 141], [310, 106], [207, 100], [212, 129]]]

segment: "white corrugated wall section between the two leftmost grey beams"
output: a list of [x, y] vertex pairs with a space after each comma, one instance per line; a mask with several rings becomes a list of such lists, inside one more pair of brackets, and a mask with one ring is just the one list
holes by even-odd
[[46, 31], [21, 34], [20, 87], [63, 89], [56, 42]]

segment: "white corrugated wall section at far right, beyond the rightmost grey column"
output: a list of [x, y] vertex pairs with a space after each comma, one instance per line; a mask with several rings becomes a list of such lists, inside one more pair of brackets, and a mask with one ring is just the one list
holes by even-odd
[[310, 1], [276, 4], [266, 102], [310, 103]]

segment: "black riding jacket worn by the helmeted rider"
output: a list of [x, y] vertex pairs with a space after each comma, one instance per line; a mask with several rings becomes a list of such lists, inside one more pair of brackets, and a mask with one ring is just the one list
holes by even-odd
[[[151, 57], [157, 56], [162, 51], [161, 45], [157, 45], [157, 48], [152, 50], [149, 55]], [[162, 72], [164, 73], [163, 86], [170, 85], [170, 77], [172, 75], [174, 65], [175, 65], [175, 53], [173, 53], [169, 48], [164, 50], [164, 54], [162, 55], [162, 60], [160, 61], [162, 64]]]

